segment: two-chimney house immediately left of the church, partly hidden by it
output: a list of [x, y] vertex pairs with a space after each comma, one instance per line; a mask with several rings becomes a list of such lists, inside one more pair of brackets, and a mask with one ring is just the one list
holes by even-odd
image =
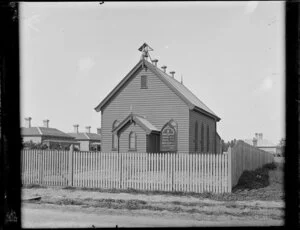
[[86, 126], [86, 132], [79, 132], [79, 125], [73, 125], [74, 132], [68, 133], [68, 135], [75, 138], [79, 143], [80, 151], [101, 151], [101, 129], [97, 129], [97, 133], [91, 133], [91, 126]]

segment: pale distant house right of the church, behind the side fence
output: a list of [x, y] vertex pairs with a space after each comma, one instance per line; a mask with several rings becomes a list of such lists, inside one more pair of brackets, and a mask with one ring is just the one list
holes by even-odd
[[262, 133], [255, 133], [253, 139], [244, 140], [247, 144], [253, 145], [261, 150], [272, 153], [274, 156], [280, 154], [281, 147], [273, 144], [271, 141], [264, 139]]

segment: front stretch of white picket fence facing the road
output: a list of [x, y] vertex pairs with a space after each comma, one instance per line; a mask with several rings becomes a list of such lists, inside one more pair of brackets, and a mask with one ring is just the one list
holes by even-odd
[[22, 183], [103, 189], [230, 192], [227, 154], [22, 151]]

